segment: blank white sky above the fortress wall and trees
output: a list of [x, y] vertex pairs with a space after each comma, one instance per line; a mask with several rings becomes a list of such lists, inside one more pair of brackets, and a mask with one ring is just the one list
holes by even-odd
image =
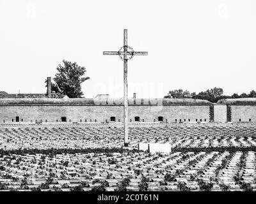
[[256, 89], [256, 1], [0, 0], [0, 90], [45, 92], [62, 59], [86, 67], [86, 98], [123, 96], [123, 62], [102, 55], [128, 45], [148, 56], [129, 61], [129, 97], [171, 89]]

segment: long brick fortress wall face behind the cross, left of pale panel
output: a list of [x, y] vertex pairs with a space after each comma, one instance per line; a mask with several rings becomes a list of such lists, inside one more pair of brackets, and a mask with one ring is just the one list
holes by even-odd
[[[67, 117], [67, 122], [79, 122], [80, 119], [84, 122], [105, 122], [106, 119], [110, 121], [110, 117], [116, 117], [123, 121], [123, 106], [118, 105], [8, 105], [0, 106], [0, 122], [12, 122], [15, 121], [15, 117], [19, 116], [23, 122], [35, 122], [35, 120], [42, 120], [45, 122], [60, 122], [61, 117]], [[140, 121], [144, 119], [145, 122], [154, 122], [154, 119], [158, 121], [158, 117], [162, 116], [163, 121], [166, 119], [168, 122], [177, 122], [181, 119], [184, 122], [195, 122], [198, 119], [202, 119], [202, 122], [206, 119], [209, 122], [209, 105], [131, 105], [129, 106], [129, 121], [134, 122], [134, 117], [140, 117]]]

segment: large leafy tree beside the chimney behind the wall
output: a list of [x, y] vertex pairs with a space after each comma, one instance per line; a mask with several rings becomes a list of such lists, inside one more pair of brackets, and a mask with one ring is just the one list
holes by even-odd
[[82, 98], [81, 84], [90, 79], [90, 77], [83, 77], [86, 68], [64, 59], [63, 63], [64, 66], [59, 64], [57, 67], [58, 73], [53, 78], [55, 83], [51, 83], [52, 92], [67, 95], [69, 98]]

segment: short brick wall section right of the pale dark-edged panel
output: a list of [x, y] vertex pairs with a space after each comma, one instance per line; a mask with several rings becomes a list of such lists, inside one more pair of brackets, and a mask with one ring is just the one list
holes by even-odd
[[231, 105], [232, 122], [256, 122], [256, 105]]

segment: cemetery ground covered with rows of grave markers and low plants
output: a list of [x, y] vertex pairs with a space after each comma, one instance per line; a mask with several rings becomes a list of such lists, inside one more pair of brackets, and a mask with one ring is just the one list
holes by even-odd
[[[252, 123], [0, 126], [0, 191], [256, 191]], [[171, 143], [150, 154], [140, 142]]]

